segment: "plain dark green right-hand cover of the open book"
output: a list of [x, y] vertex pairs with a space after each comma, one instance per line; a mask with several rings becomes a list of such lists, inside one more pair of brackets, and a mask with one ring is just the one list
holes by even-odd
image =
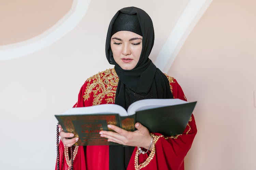
[[140, 122], [150, 132], [165, 136], [182, 134], [192, 115], [196, 102], [147, 109], [136, 112], [136, 122]]

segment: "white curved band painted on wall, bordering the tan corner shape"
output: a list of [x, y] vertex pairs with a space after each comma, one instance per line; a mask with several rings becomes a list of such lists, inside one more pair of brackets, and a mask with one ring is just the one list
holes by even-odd
[[44, 33], [15, 44], [0, 46], [0, 60], [22, 57], [46, 48], [73, 30], [88, 10], [90, 0], [74, 0], [71, 10]]

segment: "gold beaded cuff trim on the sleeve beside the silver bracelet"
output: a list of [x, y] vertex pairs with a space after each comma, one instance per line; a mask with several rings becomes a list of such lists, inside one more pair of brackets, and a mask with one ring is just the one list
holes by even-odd
[[135, 154], [135, 160], [134, 160], [134, 167], [135, 170], [140, 170], [141, 168], [146, 167], [150, 161], [153, 159], [153, 157], [155, 156], [156, 153], [156, 142], [160, 137], [163, 137], [163, 135], [161, 136], [157, 136], [154, 134], [150, 134], [153, 137], [153, 147], [152, 147], [152, 151], [150, 152], [150, 155], [146, 158], [146, 160], [139, 164], [139, 150], [137, 148], [136, 154]]

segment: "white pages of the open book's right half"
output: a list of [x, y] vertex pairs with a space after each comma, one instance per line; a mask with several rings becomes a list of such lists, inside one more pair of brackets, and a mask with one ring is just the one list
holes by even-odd
[[143, 111], [151, 108], [163, 107], [163, 106], [172, 106], [177, 104], [188, 103], [187, 101], [181, 99], [144, 99], [132, 103], [128, 107], [128, 115], [133, 115], [135, 112]]

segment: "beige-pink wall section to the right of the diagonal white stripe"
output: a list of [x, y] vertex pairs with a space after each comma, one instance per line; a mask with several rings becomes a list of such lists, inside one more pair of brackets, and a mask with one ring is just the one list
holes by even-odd
[[214, 0], [174, 61], [198, 128], [187, 170], [255, 170], [256, 1]]

